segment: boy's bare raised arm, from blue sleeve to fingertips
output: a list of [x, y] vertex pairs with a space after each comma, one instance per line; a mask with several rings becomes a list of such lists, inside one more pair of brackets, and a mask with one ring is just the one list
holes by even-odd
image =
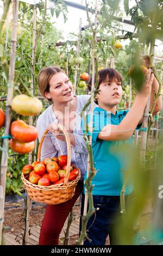
[[133, 106], [126, 117], [123, 118], [119, 125], [109, 124], [104, 126], [101, 132], [99, 132], [99, 139], [104, 141], [122, 141], [129, 139], [133, 135], [147, 105], [153, 79], [154, 74], [151, 74], [151, 69], [149, 69], [142, 90], [137, 93]]

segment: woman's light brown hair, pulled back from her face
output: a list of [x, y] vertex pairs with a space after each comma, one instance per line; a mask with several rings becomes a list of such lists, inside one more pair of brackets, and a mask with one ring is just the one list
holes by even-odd
[[42, 69], [37, 78], [37, 83], [39, 85], [39, 90], [42, 96], [45, 97], [45, 92], [49, 92], [49, 81], [52, 76], [59, 73], [64, 72], [59, 66], [48, 66], [48, 68]]

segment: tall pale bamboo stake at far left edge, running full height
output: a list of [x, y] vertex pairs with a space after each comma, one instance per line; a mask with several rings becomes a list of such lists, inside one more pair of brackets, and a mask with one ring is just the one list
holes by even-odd
[[[10, 68], [9, 68], [9, 81], [8, 81], [8, 94], [7, 103], [5, 108], [5, 129], [4, 136], [8, 136], [10, 132], [10, 113], [11, 113], [11, 100], [14, 92], [14, 70], [15, 70], [15, 53], [16, 53], [16, 41], [17, 41], [17, 15], [18, 15], [18, 1], [14, 0], [13, 5], [13, 20], [12, 20], [12, 34], [11, 34], [11, 54], [10, 54]], [[2, 241], [2, 228], [3, 228], [3, 218], [4, 218], [4, 203], [5, 203], [5, 183], [7, 176], [8, 167], [8, 148], [9, 141], [8, 138], [3, 139], [3, 152], [1, 160], [1, 180], [0, 187], [2, 190], [3, 197], [0, 198], [2, 207], [0, 209], [0, 243]]]

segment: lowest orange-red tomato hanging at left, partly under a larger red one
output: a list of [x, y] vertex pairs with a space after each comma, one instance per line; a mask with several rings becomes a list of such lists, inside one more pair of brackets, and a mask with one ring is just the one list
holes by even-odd
[[34, 150], [35, 142], [32, 141], [32, 142], [24, 143], [24, 142], [17, 141], [17, 139], [10, 139], [10, 147], [16, 153], [27, 154], [30, 151]]

